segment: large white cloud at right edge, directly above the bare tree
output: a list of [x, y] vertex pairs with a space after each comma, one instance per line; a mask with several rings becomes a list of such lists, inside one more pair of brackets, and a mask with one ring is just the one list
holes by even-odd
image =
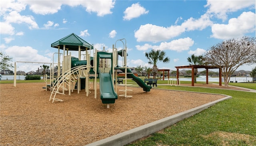
[[211, 37], [230, 39], [244, 36], [246, 33], [255, 31], [255, 22], [255, 13], [243, 12], [238, 18], [231, 18], [228, 24], [214, 24]]

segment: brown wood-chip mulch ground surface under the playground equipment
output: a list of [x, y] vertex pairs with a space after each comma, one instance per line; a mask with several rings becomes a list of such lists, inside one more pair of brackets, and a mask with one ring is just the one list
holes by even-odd
[[[118, 96], [115, 104], [102, 104], [97, 88], [86, 97], [84, 90], [63, 102], [50, 102], [44, 83], [0, 84], [1, 145], [78, 145], [82, 146], [109, 136], [160, 120], [223, 98], [222, 95], [128, 87], [127, 95]], [[119, 91], [124, 89], [118, 86]]]

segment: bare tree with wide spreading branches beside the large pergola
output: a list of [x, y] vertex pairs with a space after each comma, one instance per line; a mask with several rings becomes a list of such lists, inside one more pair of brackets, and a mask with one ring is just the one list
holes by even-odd
[[256, 38], [225, 40], [212, 46], [204, 58], [208, 64], [222, 68], [224, 84], [228, 87], [230, 76], [239, 66], [256, 63]]

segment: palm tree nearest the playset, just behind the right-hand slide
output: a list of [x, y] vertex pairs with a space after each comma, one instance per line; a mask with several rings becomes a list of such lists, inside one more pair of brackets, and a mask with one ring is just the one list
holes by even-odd
[[146, 58], [148, 59], [148, 64], [153, 64], [152, 72], [153, 76], [155, 78], [158, 67], [156, 64], [159, 62], [168, 63], [170, 61], [169, 57], [165, 57], [165, 52], [161, 50], [151, 50], [150, 52], [145, 53]]

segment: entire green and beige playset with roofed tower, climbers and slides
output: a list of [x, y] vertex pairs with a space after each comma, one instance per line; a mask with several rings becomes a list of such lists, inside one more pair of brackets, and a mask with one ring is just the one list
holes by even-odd
[[[116, 49], [116, 43], [118, 41], [121, 41], [124, 45], [124, 48], [119, 51]], [[143, 80], [136, 77], [127, 67], [126, 58], [128, 54], [126, 40], [120, 39], [116, 43], [112, 46], [112, 52], [106, 52], [105, 48], [103, 48], [103, 51], [98, 51], [94, 48], [93, 44], [88, 44], [74, 33], [52, 43], [52, 47], [58, 48], [58, 53], [53, 54], [53, 61], [54, 55], [58, 54], [58, 62], [51, 64], [50, 83], [46, 83], [46, 88], [50, 88], [51, 91], [50, 101], [63, 101], [56, 98], [56, 94], [65, 94], [65, 91], [68, 91], [68, 94], [71, 95], [74, 89], [77, 89], [78, 94], [81, 89], [85, 89], [86, 96], [88, 96], [91, 93], [89, 87], [91, 83], [89, 82], [90, 79], [94, 80], [94, 98], [97, 98], [96, 88], [97, 78], [99, 78], [100, 98], [102, 103], [107, 104], [107, 108], [109, 108], [110, 104], [114, 104], [118, 98], [116, 94], [117, 70], [121, 70], [122, 74], [124, 74], [122, 80], [124, 80], [123, 85], [125, 86], [124, 90], [120, 90], [124, 94], [119, 96], [132, 97], [127, 95], [127, 92], [131, 91], [127, 88], [128, 79], [134, 80], [145, 92], [149, 92], [152, 86], [146, 85]], [[63, 53], [60, 53], [60, 50], [63, 50]], [[78, 58], [73, 57], [71, 52], [68, 52], [70, 50], [78, 51]], [[81, 54], [81, 51], [85, 51], [85, 54]], [[84, 56], [84, 58], [81, 59], [81, 56]], [[118, 56], [122, 57], [122, 66], [118, 66]], [[54, 72], [54, 68], [58, 70]]]

